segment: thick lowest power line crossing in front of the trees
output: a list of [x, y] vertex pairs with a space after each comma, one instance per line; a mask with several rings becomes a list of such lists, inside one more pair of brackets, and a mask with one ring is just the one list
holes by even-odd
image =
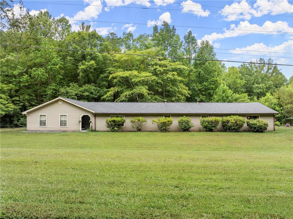
[[121, 53], [121, 52], [101, 52], [93, 50], [83, 50], [83, 49], [63, 49], [63, 48], [52, 48], [52, 47], [38, 47], [38, 46], [25, 46], [25, 45], [11, 45], [3, 44], [3, 46], [17, 46], [17, 47], [28, 47], [36, 49], [57, 49], [66, 51], [78, 51], [78, 52], [95, 52], [95, 53], [107, 53], [107, 54], [121, 54], [121, 55], [132, 55], [132, 56], [145, 56], [145, 57], [158, 57], [158, 58], [170, 58], [170, 59], [189, 59], [189, 60], [201, 60], [201, 61], [224, 61], [224, 62], [237, 62], [237, 63], [248, 63], [248, 64], [264, 64], [264, 65], [282, 65], [282, 66], [293, 66], [288, 64], [273, 64], [273, 63], [259, 63], [259, 62], [248, 62], [248, 61], [228, 61], [228, 60], [218, 60], [218, 59], [198, 59], [198, 58], [187, 58], [187, 57], [172, 57], [172, 56], [157, 56], [157, 55], [144, 55], [144, 54], [132, 54], [132, 53]]

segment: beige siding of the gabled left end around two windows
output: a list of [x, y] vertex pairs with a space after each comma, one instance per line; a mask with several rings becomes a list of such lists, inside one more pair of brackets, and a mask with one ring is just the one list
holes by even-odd
[[[39, 127], [39, 114], [47, 114], [47, 127]], [[60, 127], [60, 114], [67, 114], [67, 127]], [[94, 115], [91, 112], [75, 106], [69, 102], [58, 100], [42, 106], [27, 114], [28, 131], [79, 131], [79, 120], [82, 114], [89, 114], [94, 126]]]

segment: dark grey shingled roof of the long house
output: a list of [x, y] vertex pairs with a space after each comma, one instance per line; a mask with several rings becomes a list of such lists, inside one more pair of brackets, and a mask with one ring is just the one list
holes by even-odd
[[278, 114], [277, 111], [258, 102], [83, 102], [64, 99], [96, 113], [108, 114]]

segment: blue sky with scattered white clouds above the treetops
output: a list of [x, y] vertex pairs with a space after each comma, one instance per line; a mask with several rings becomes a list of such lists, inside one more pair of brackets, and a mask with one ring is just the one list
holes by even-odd
[[[95, 20], [113, 22], [86, 22], [90, 23], [92, 28], [96, 29], [97, 32], [101, 35], [105, 35], [111, 31], [116, 32], [118, 35], [122, 35], [124, 31], [132, 31], [135, 37], [142, 33], [151, 34], [152, 25], [135, 25], [132, 23], [161, 24], [163, 20], [166, 20], [168, 21], [168, 23], [175, 26], [181, 25], [233, 29], [221, 30], [176, 27], [177, 32], [182, 39], [184, 34], [189, 29], [191, 29], [198, 40], [209, 40], [214, 45], [218, 59], [234, 61], [255, 61], [255, 58], [259, 58], [260, 55], [263, 55], [277, 56], [273, 57], [272, 59], [278, 64], [293, 63], [293, 34], [281, 33], [293, 32], [293, 1], [30, 0], [29, 2], [26, 2], [24, 0], [23, 5], [25, 6], [25, 8], [28, 8], [30, 10], [30, 13], [35, 14], [40, 10], [47, 9], [54, 17], [64, 16], [68, 19], [71, 19], [70, 22], [73, 30], [77, 30], [78, 25], [81, 22], [72, 20]], [[38, 4], [37, 2], [44, 4]], [[102, 5], [103, 7], [100, 7], [99, 5]], [[107, 6], [144, 7], [149, 9], [118, 8]], [[129, 25], [125, 26], [125, 24], [114, 22], [125, 22], [129, 23]], [[276, 31], [280, 33], [253, 32], [241, 30]], [[242, 49], [268, 52], [233, 51], [221, 49]], [[286, 52], [290, 54], [286, 54]], [[268, 59], [269, 57], [263, 58]], [[238, 66], [239, 63], [225, 62], [225, 65], [227, 67]], [[279, 66], [279, 68], [282, 69], [282, 72], [287, 78], [290, 78], [292, 76], [292, 66]]]

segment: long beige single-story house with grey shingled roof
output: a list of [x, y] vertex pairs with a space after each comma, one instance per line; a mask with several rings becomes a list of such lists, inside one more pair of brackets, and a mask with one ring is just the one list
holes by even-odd
[[[239, 115], [247, 119], [263, 119], [268, 122], [268, 131], [275, 130], [275, 110], [258, 102], [208, 103], [208, 102], [83, 102], [64, 97], [41, 104], [23, 114], [27, 115], [28, 131], [81, 131], [93, 126], [96, 131], [109, 131], [105, 126], [109, 117], [124, 117], [122, 131], [134, 131], [130, 119], [142, 116], [147, 119], [143, 131], [157, 131], [153, 118], [168, 116], [173, 118], [170, 131], [180, 131], [178, 118], [188, 116], [194, 127], [200, 131], [200, 118]], [[223, 130], [220, 124], [218, 131]], [[242, 131], [249, 130], [245, 124]]]

